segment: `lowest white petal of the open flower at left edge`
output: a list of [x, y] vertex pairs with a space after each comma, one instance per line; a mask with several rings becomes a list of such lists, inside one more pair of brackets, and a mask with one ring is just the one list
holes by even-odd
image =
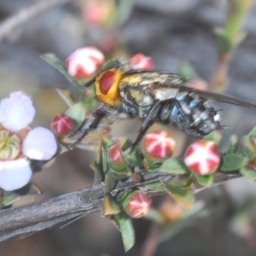
[[0, 188], [6, 191], [20, 189], [31, 177], [32, 170], [28, 160], [0, 161]]

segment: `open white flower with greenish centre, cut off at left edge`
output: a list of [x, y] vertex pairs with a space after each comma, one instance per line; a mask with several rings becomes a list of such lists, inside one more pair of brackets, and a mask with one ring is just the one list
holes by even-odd
[[27, 127], [35, 116], [32, 100], [20, 91], [0, 102], [0, 188], [20, 189], [32, 177], [27, 158], [49, 160], [57, 150], [55, 137], [43, 127]]

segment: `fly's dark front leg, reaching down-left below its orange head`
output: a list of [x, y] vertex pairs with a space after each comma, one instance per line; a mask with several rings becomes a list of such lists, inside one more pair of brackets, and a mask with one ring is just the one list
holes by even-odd
[[75, 143], [70, 144], [68, 147], [71, 149], [75, 148], [75, 146], [78, 143], [80, 143], [90, 131], [93, 131], [97, 128], [97, 126], [99, 125], [99, 123], [101, 122], [101, 120], [105, 115], [106, 115], [106, 112], [104, 111], [104, 109], [102, 108], [96, 109], [96, 111], [93, 113], [93, 116], [95, 117], [95, 119], [92, 121], [89, 127], [83, 130], [75, 131], [73, 132], [73, 134], [71, 134], [71, 137], [72, 137], [74, 135], [82, 133], [82, 135], [77, 139], [77, 141]]

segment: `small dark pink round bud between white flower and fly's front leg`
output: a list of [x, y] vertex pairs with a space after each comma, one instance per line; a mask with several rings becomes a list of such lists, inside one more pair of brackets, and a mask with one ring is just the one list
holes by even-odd
[[73, 119], [66, 114], [57, 114], [51, 121], [51, 129], [57, 134], [63, 135], [73, 129]]

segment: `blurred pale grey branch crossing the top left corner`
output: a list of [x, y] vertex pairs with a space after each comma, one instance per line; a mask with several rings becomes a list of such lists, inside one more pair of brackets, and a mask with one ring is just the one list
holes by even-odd
[[9, 35], [20, 26], [37, 19], [49, 10], [54, 9], [61, 4], [70, 2], [71, 0], [43, 0], [32, 4], [29, 7], [21, 9], [15, 15], [10, 16], [0, 24], [0, 42], [8, 38]]

